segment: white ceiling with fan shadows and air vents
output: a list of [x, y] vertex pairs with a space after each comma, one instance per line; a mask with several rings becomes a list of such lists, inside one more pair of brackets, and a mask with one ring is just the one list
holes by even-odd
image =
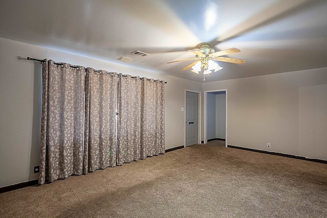
[[167, 62], [194, 58], [202, 42], [240, 49], [227, 57], [245, 64], [219, 62], [212, 82], [327, 67], [327, 1], [2, 0], [0, 37], [198, 82], [181, 70], [192, 61]]

